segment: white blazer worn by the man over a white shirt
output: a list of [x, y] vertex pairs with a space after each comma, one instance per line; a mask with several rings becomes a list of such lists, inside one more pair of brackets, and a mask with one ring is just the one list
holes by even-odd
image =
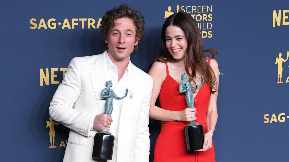
[[[49, 114], [70, 129], [63, 161], [95, 161], [92, 148], [95, 130], [93, 119], [103, 113], [105, 101], [105, 52], [99, 55], [75, 57], [71, 60], [61, 84], [50, 103]], [[133, 98], [123, 99], [118, 128], [118, 162], [149, 161], [149, 104], [152, 78], [131, 63], [126, 86]], [[128, 94], [129, 95], [129, 94]]]

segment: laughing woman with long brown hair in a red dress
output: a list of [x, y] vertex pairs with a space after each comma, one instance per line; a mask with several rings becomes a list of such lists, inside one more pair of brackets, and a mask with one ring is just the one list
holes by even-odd
[[[212, 53], [207, 58], [204, 52]], [[149, 116], [164, 124], [155, 143], [155, 162], [215, 161], [212, 136], [217, 122], [218, 64], [214, 48], [203, 50], [201, 33], [194, 19], [185, 12], [171, 15], [162, 27], [161, 48], [149, 75], [153, 90]], [[179, 93], [181, 74], [192, 89], [194, 108], [187, 108], [185, 94]], [[159, 97], [161, 108], [155, 106]], [[203, 149], [186, 151], [184, 127], [195, 121], [204, 127]]]

